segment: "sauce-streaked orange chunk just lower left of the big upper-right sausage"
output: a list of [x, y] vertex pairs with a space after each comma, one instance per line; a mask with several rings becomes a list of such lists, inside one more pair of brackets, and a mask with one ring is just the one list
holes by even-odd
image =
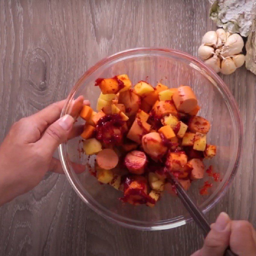
[[178, 112], [175, 108], [174, 104], [170, 100], [165, 101], [156, 101], [152, 108], [152, 114], [159, 118], [162, 118], [168, 114], [172, 114], [173, 116], [177, 116]]

